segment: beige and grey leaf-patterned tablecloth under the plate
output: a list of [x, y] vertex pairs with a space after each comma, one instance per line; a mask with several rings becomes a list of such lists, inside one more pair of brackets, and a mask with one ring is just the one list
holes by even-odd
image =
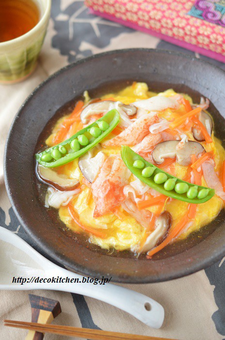
[[[89, 14], [79, 0], [53, 0], [51, 20], [34, 73], [23, 83], [0, 85], [0, 225], [33, 243], [19, 225], [6, 195], [3, 149], [10, 124], [30, 92], [59, 68], [94, 53], [145, 47], [180, 51], [207, 60], [225, 70], [225, 64], [183, 50], [153, 36]], [[127, 285], [149, 295], [165, 307], [165, 323], [153, 330], [115, 307], [77, 294], [58, 291], [34, 293], [60, 301], [58, 324], [168, 337], [212, 340], [225, 338], [225, 262], [179, 280], [148, 285]], [[0, 340], [24, 339], [26, 331], [2, 325], [3, 319], [30, 321], [28, 292], [0, 291]], [[46, 335], [45, 339], [66, 339]]]

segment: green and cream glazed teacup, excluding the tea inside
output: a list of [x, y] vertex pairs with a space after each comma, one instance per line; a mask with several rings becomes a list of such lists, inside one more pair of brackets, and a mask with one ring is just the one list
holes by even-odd
[[0, 43], [0, 84], [22, 81], [30, 75], [45, 39], [50, 17], [51, 0], [35, 0], [40, 19], [29, 32]]

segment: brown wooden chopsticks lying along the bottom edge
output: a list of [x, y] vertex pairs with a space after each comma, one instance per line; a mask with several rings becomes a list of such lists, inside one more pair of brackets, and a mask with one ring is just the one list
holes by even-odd
[[175, 340], [166, 338], [148, 337], [143, 335], [108, 332], [98, 329], [70, 327], [56, 324], [28, 323], [23, 321], [4, 320], [5, 326], [23, 328], [41, 333], [67, 335], [69, 337], [88, 338], [90, 340]]

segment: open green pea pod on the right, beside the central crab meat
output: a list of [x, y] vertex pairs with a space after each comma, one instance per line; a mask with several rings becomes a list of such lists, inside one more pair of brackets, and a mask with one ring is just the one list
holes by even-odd
[[[131, 150], [128, 146], [122, 146], [120, 153], [127, 168], [131, 170], [137, 178], [165, 196], [184, 202], [198, 204], [209, 201], [215, 194], [213, 189], [196, 186], [195, 184], [182, 181], [162, 169], [157, 168]], [[134, 164], [136, 164], [137, 161], [142, 161], [144, 163], [144, 168], [136, 168]], [[151, 171], [150, 168], [152, 169]]]

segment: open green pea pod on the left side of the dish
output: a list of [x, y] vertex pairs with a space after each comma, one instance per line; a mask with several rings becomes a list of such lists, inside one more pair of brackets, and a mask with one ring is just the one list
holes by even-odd
[[[100, 130], [98, 126], [99, 123], [104, 122], [104, 128], [107, 127], [107, 129], [103, 131]], [[96, 120], [84, 129], [78, 131], [69, 139], [66, 139], [60, 144], [48, 148], [41, 153], [36, 153], [36, 160], [38, 163], [47, 168], [56, 168], [69, 163], [92, 149], [96, 144], [104, 139], [119, 124], [119, 122], [120, 115], [116, 109], [113, 109], [106, 113], [105, 116]], [[101, 125], [102, 124], [100, 124], [100, 126]], [[97, 130], [93, 130], [93, 127], [96, 127]], [[101, 131], [101, 134], [99, 130]], [[91, 134], [93, 131], [97, 131], [96, 134], [94, 133], [95, 136]]]

